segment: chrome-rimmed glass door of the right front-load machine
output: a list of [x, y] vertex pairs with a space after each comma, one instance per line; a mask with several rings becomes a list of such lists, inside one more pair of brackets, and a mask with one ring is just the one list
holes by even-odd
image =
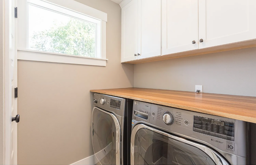
[[[139, 126], [140, 125], [140, 126]], [[161, 132], [144, 124], [132, 131], [131, 164], [216, 165], [225, 164], [212, 150]], [[198, 148], [200, 146], [200, 148]]]

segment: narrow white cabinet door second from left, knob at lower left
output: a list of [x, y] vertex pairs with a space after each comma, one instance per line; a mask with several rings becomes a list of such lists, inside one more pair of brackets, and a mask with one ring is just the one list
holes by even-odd
[[138, 59], [161, 55], [161, 1], [139, 0]]

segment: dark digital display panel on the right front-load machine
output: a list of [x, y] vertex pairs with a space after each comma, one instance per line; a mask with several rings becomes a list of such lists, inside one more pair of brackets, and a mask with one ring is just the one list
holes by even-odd
[[235, 123], [194, 116], [193, 130], [194, 132], [234, 141]]

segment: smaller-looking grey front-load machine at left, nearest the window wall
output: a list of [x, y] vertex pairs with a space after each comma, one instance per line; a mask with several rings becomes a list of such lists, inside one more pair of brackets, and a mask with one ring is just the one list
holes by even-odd
[[97, 164], [130, 164], [132, 104], [130, 99], [94, 94], [91, 136]]

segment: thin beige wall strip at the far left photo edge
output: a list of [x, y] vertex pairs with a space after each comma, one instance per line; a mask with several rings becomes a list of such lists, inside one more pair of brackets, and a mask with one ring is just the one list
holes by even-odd
[[3, 162], [3, 113], [4, 113], [4, 106], [3, 106], [3, 0], [0, 0], [0, 109], [2, 109], [0, 113], [0, 164], [4, 164]]

